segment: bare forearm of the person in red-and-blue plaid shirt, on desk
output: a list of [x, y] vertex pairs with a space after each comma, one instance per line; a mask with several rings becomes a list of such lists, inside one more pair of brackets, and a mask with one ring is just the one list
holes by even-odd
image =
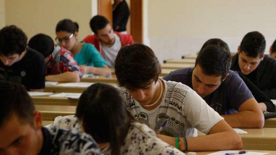
[[45, 76], [47, 81], [56, 81], [56, 82], [79, 82], [80, 76], [77, 71], [73, 72], [64, 72], [57, 75], [47, 75]]

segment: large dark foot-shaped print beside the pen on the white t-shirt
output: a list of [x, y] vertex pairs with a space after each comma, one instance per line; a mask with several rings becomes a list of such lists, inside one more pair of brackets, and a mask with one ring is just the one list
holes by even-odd
[[181, 137], [184, 137], [186, 135], [185, 125], [182, 122], [178, 121], [176, 118], [170, 117], [165, 113], [160, 113], [159, 115], [157, 115], [155, 119], [156, 125], [154, 130], [158, 131], [162, 123], [166, 120], [167, 120], [167, 124], [160, 132], [160, 134], [167, 135], [170, 137], [173, 137], [173, 135], [181, 135]]

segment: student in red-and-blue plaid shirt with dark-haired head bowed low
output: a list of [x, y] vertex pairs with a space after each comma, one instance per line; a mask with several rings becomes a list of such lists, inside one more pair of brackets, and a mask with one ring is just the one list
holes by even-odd
[[65, 48], [55, 46], [53, 39], [45, 34], [36, 34], [28, 46], [44, 56], [45, 79], [57, 82], [79, 82], [82, 72], [73, 54]]

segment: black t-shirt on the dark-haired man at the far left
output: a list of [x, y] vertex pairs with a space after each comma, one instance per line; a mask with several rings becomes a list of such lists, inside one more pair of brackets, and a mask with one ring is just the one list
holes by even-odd
[[45, 88], [44, 57], [37, 51], [27, 48], [24, 57], [11, 66], [0, 61], [0, 80], [20, 83], [30, 89]]

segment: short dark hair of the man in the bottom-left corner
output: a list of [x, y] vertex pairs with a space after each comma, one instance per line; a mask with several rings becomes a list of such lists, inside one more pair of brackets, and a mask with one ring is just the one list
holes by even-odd
[[0, 98], [0, 127], [12, 114], [34, 125], [34, 103], [23, 85], [0, 80]]

